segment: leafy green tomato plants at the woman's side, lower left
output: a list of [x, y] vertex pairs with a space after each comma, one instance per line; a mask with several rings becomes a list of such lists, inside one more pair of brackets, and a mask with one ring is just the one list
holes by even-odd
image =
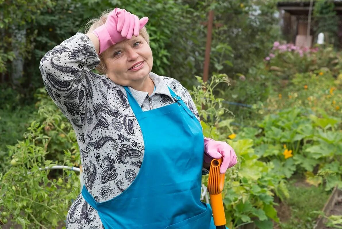
[[39, 117], [30, 124], [23, 140], [9, 146], [4, 160], [0, 211], [8, 215], [1, 220], [23, 228], [55, 228], [64, 221], [71, 200], [79, 194], [79, 178], [74, 171], [56, 174], [40, 168], [77, 166], [79, 151], [71, 125], [45, 90], [38, 91], [37, 96]]

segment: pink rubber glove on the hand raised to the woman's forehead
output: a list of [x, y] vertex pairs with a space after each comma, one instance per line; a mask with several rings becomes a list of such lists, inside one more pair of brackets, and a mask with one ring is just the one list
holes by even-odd
[[126, 10], [115, 8], [107, 17], [104, 25], [96, 28], [92, 32], [100, 41], [100, 53], [108, 49], [111, 45], [119, 43], [124, 39], [131, 39], [132, 36], [138, 36], [148, 22], [148, 17], [139, 20], [138, 16], [131, 14]]

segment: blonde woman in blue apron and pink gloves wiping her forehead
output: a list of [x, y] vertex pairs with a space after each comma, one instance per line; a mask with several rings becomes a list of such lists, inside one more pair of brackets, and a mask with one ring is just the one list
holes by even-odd
[[151, 72], [147, 21], [115, 8], [41, 60], [44, 85], [75, 129], [84, 168], [67, 229], [214, 227], [210, 206], [200, 201], [202, 165], [223, 158], [225, 173], [236, 155], [203, 137], [180, 82]]

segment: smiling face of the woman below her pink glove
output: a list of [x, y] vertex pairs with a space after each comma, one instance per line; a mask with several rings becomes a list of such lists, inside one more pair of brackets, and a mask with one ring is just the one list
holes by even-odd
[[112, 45], [104, 54], [106, 75], [122, 86], [143, 84], [152, 70], [153, 57], [150, 46], [139, 35]]

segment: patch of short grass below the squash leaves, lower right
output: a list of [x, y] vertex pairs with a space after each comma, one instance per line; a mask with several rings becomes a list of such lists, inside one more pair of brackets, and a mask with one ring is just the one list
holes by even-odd
[[308, 185], [305, 181], [293, 179], [289, 181], [290, 198], [281, 203], [278, 211], [281, 229], [312, 229], [318, 217], [313, 211], [320, 211], [329, 198], [324, 187]]

